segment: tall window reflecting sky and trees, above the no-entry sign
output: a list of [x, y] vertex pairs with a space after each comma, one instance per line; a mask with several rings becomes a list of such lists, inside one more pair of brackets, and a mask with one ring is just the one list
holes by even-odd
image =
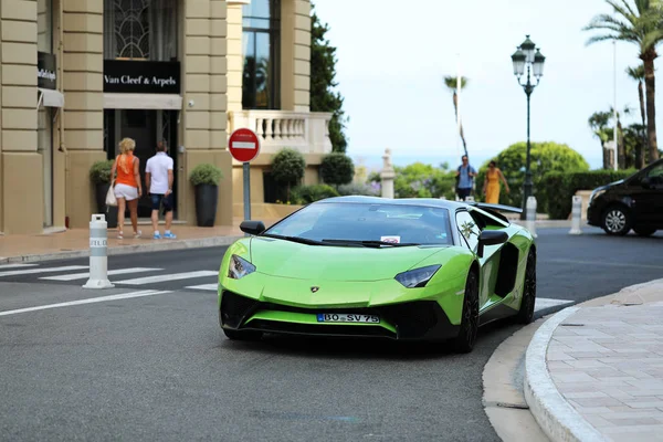
[[277, 109], [281, 106], [281, 0], [252, 0], [242, 8], [242, 107]]

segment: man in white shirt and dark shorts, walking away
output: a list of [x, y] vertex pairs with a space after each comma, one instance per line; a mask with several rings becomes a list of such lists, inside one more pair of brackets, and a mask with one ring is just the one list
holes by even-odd
[[164, 207], [166, 214], [166, 232], [164, 238], [177, 238], [170, 232], [172, 223], [172, 158], [166, 154], [167, 145], [165, 140], [157, 143], [157, 155], [147, 160], [145, 166], [145, 182], [147, 183], [147, 193], [151, 198], [152, 229], [155, 230], [155, 240], [160, 240], [159, 233], [159, 209]]

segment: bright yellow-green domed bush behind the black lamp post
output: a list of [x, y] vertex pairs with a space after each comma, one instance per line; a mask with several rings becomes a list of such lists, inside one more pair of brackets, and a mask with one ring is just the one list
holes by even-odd
[[[532, 180], [534, 182], [534, 194], [537, 198], [537, 210], [546, 212], [546, 192], [541, 185], [544, 175], [551, 171], [587, 171], [589, 165], [580, 154], [567, 145], [556, 143], [532, 143], [530, 150]], [[491, 160], [497, 162], [497, 167], [504, 173], [508, 182], [511, 193], [504, 191], [499, 194], [499, 203], [514, 207], [523, 207], [523, 183], [525, 182], [525, 166], [527, 164], [527, 143], [516, 143], [501, 151], [495, 158], [488, 159], [478, 168], [476, 177], [476, 194], [483, 196], [483, 185], [486, 177], [487, 166]], [[476, 167], [476, 166], [475, 166]]]

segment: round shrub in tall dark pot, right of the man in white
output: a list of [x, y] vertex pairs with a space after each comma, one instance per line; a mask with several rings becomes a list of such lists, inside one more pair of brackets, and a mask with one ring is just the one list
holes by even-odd
[[211, 228], [214, 225], [219, 203], [219, 180], [221, 178], [223, 178], [223, 173], [214, 165], [202, 164], [191, 170], [189, 179], [196, 189], [198, 227]]

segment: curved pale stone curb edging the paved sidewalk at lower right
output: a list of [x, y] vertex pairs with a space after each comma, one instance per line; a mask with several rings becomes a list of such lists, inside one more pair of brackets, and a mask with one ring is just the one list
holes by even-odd
[[604, 441], [603, 435], [587, 422], [555, 387], [546, 362], [548, 344], [555, 329], [580, 307], [567, 307], [535, 333], [525, 355], [525, 400], [529, 410], [551, 441]]

